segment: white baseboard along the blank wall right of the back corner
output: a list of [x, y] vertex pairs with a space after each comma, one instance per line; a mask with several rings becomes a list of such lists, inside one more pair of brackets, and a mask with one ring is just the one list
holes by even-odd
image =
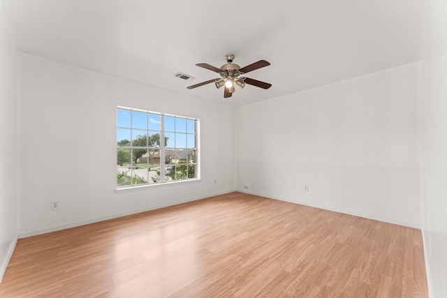
[[320, 204], [309, 204], [309, 202], [302, 202], [300, 200], [292, 200], [290, 198], [279, 198], [277, 196], [265, 195], [263, 193], [256, 193], [256, 192], [242, 190], [242, 189], [237, 189], [236, 191], [239, 191], [240, 193], [248, 193], [250, 195], [258, 195], [260, 197], [269, 198], [269, 199], [273, 199], [273, 200], [280, 200], [280, 201], [284, 201], [284, 202], [301, 204], [301, 205], [314, 207], [314, 208], [318, 208], [318, 209], [334, 211], [334, 212], [338, 212], [338, 213], [342, 213], [342, 214], [349, 214], [349, 215], [358, 216], [358, 217], [362, 217], [362, 218], [373, 219], [374, 221], [383, 221], [384, 223], [393, 223], [394, 225], [403, 225], [404, 227], [420, 229], [420, 224], [408, 223], [406, 221], [399, 221], [394, 218], [386, 218], [386, 217], [382, 217], [382, 216], [375, 216], [372, 214], [362, 214], [360, 212], [346, 211], [341, 208], [332, 207], [332, 206], [324, 206], [324, 205], [320, 205]]

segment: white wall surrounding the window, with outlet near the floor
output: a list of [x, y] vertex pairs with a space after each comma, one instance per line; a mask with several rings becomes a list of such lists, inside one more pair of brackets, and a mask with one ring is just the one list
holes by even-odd
[[[18, 67], [21, 237], [234, 191], [233, 107], [27, 54]], [[203, 179], [115, 193], [117, 105], [200, 119]]]

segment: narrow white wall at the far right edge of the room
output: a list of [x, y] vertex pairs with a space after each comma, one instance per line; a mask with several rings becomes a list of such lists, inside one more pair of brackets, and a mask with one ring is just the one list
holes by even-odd
[[447, 1], [425, 1], [423, 235], [430, 297], [447, 297]]

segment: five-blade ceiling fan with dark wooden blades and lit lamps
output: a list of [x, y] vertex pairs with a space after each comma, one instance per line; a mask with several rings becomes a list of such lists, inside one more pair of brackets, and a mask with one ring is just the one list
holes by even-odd
[[214, 82], [214, 84], [216, 84], [217, 89], [219, 89], [222, 86], [225, 86], [225, 91], [223, 92], [223, 97], [227, 98], [227, 97], [231, 97], [231, 95], [235, 91], [235, 84], [237, 84], [237, 86], [239, 86], [241, 88], [244, 88], [245, 84], [250, 84], [250, 85], [262, 88], [262, 89], [269, 89], [270, 87], [272, 87], [272, 84], [269, 84], [266, 82], [261, 82], [258, 80], [250, 79], [249, 77], [240, 77], [240, 75], [244, 75], [245, 73], [248, 73], [252, 70], [256, 70], [258, 68], [269, 66], [270, 63], [268, 63], [268, 61], [259, 60], [258, 62], [255, 62], [254, 64], [250, 64], [250, 65], [240, 68], [240, 66], [238, 66], [237, 64], [232, 63], [233, 59], [235, 59], [235, 55], [228, 54], [225, 56], [225, 58], [226, 58], [227, 64], [224, 64], [223, 66], [221, 66], [221, 68], [217, 68], [217, 67], [214, 67], [214, 66], [212, 66], [210, 64], [206, 64], [206, 63], [196, 64], [196, 66], [200, 66], [200, 67], [206, 68], [208, 70], [212, 70], [216, 73], [219, 73], [219, 75], [221, 75], [221, 77], [217, 78], [217, 79], [201, 82], [201, 83], [198, 83], [198, 84], [186, 87], [186, 88], [194, 89], [196, 87], [200, 87], [200, 86]]

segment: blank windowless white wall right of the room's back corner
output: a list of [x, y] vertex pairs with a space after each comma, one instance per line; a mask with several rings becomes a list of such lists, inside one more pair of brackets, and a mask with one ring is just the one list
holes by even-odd
[[418, 73], [408, 64], [237, 108], [237, 189], [420, 228]]

